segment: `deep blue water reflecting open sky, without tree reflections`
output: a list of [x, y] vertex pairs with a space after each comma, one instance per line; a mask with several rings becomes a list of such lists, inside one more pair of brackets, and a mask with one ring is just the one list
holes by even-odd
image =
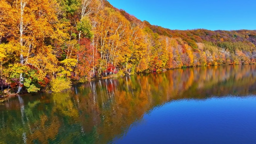
[[116, 144], [255, 144], [256, 96], [168, 102], [150, 110]]

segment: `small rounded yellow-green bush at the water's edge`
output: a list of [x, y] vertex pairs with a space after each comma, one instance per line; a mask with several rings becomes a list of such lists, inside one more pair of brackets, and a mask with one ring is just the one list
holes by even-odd
[[57, 77], [50, 82], [52, 92], [62, 92], [71, 88], [71, 81], [63, 77]]

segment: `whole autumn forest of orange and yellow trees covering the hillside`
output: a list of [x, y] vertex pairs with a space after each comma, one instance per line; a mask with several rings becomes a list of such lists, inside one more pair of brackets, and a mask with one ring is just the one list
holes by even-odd
[[107, 76], [256, 63], [256, 30], [170, 30], [106, 0], [1, 0], [0, 82], [60, 92]]

